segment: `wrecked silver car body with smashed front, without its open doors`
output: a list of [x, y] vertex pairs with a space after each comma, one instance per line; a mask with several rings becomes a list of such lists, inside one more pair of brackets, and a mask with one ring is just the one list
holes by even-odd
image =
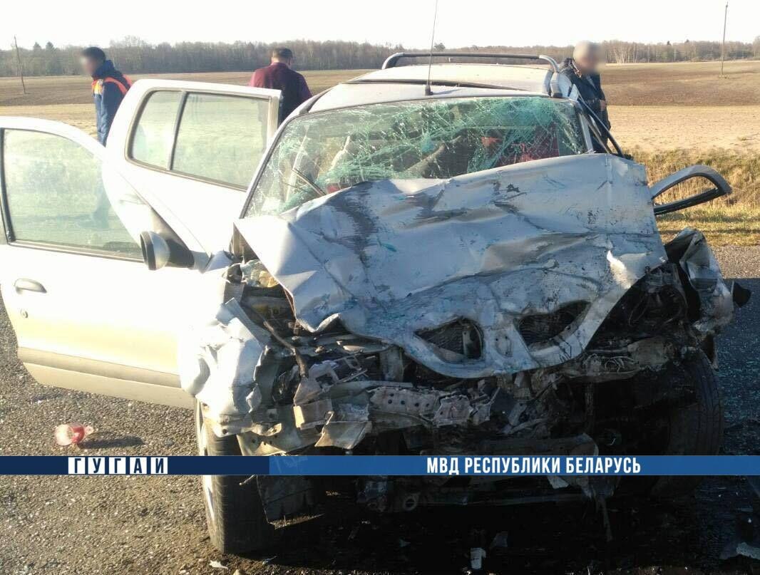
[[[714, 336], [749, 294], [724, 282], [700, 232], [663, 245], [655, 216], [728, 194], [727, 182], [692, 166], [648, 186], [550, 58], [397, 65], [407, 57], [284, 122], [228, 251], [198, 246], [173, 225], [172, 198], [135, 186], [152, 210], [140, 220], [148, 267], [203, 270], [198, 283], [221, 304], [183, 327], [179, 346], [201, 453], [717, 453]], [[709, 189], [659, 203], [695, 178]], [[606, 497], [619, 485], [342, 487], [393, 511]], [[271, 521], [322, 491], [318, 479], [207, 477], [212, 542], [267, 545]]]

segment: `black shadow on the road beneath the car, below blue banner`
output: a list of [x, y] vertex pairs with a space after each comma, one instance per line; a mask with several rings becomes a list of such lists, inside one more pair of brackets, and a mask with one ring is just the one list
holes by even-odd
[[[344, 573], [461, 573], [476, 536], [491, 573], [599, 573], [673, 566], [722, 570], [720, 553], [736, 535], [735, 512], [752, 496], [744, 478], [708, 478], [691, 497], [610, 500], [613, 541], [587, 504], [436, 507], [377, 514], [331, 496], [318, 515], [277, 529], [274, 548], [247, 557], [273, 573], [305, 569]], [[498, 536], [498, 537], [497, 537]], [[493, 545], [495, 541], [499, 545]], [[506, 542], [506, 545], [502, 545]], [[736, 569], [736, 565], [733, 565]]]

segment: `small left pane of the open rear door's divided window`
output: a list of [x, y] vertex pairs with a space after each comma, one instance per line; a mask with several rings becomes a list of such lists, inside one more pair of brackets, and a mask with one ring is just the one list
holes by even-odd
[[180, 100], [182, 92], [166, 90], [147, 97], [132, 136], [131, 156], [135, 160], [169, 169]]

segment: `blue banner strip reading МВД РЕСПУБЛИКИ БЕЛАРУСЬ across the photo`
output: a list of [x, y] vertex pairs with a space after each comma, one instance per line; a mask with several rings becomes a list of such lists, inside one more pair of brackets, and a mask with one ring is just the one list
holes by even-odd
[[2, 456], [0, 475], [760, 475], [760, 456]]

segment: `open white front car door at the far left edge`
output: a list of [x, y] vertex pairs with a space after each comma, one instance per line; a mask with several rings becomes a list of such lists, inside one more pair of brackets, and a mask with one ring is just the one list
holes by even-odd
[[[69, 125], [0, 117], [0, 289], [19, 357], [41, 384], [189, 406], [177, 339], [221, 297], [203, 291], [208, 254], [105, 156]], [[148, 270], [141, 231], [191, 267]]]

